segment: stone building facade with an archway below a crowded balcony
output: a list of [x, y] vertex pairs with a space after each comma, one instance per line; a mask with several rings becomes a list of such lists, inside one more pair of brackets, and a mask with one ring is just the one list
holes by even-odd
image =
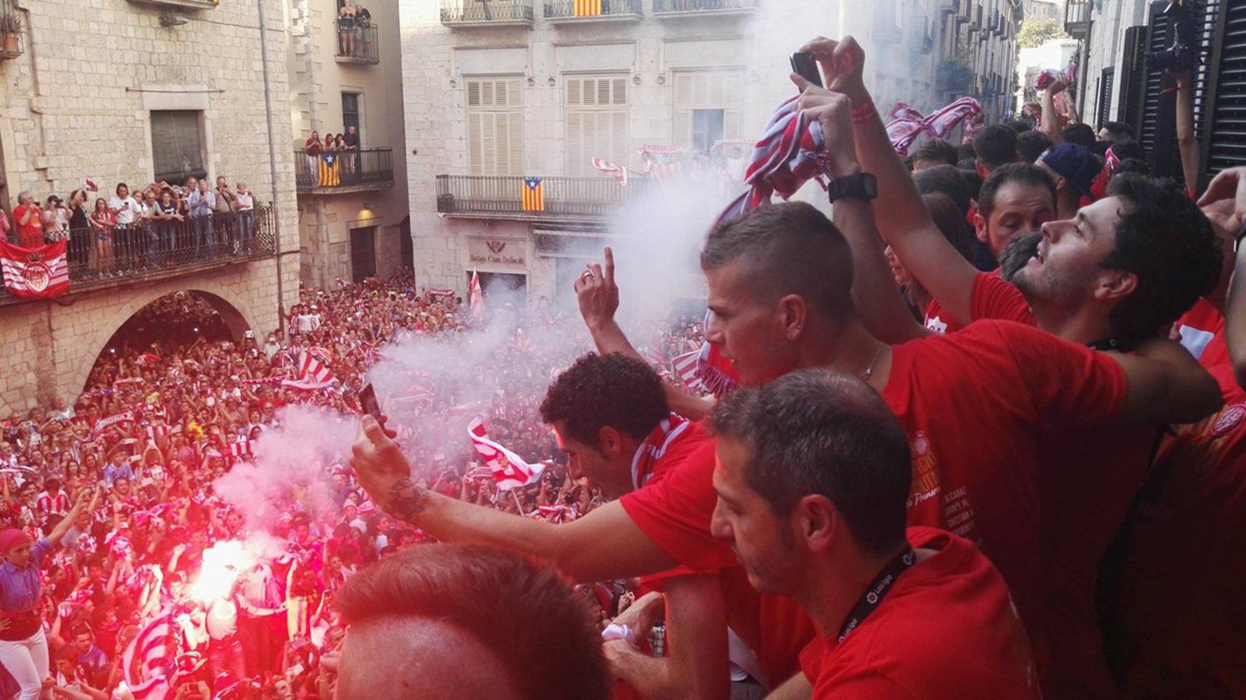
[[[264, 9], [267, 66], [257, 6]], [[274, 207], [279, 240], [275, 255], [240, 264], [71, 288], [55, 301], [0, 299], [0, 416], [57, 394], [75, 399], [117, 328], [161, 294], [201, 289], [213, 295], [239, 336], [245, 328], [275, 328], [279, 308], [293, 304], [299, 289], [282, 5], [17, 0], [15, 12], [21, 44], [0, 60], [0, 203], [6, 210], [19, 192], [67, 197], [83, 178], [100, 186], [93, 199], [110, 197], [120, 182], [142, 187], [187, 173], [223, 174], [231, 184], [247, 182], [258, 204]]]

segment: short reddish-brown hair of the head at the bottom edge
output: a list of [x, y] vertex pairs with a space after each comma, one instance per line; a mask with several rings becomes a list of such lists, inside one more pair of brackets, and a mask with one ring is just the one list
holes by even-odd
[[588, 608], [548, 567], [473, 544], [427, 544], [386, 557], [336, 598], [348, 624], [425, 618], [488, 649], [528, 700], [606, 700], [611, 673]]

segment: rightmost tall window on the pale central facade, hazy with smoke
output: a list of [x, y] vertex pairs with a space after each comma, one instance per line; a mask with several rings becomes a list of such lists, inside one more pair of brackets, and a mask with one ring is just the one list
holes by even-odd
[[705, 153], [721, 140], [740, 137], [743, 71], [675, 73], [674, 142]]

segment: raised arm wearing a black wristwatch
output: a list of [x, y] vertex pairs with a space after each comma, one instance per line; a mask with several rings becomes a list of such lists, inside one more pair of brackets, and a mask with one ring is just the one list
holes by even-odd
[[[831, 174], [845, 177], [862, 172], [852, 138], [852, 102], [841, 93], [810, 85], [800, 76], [792, 76], [792, 82], [802, 92], [800, 108], [822, 126]], [[921, 198], [917, 206], [925, 208]], [[836, 228], [852, 248], [852, 301], [870, 333], [887, 343], [927, 335], [930, 331], [913, 319], [900, 298], [875, 225], [873, 204], [866, 199], [842, 198], [835, 202], [831, 213]]]

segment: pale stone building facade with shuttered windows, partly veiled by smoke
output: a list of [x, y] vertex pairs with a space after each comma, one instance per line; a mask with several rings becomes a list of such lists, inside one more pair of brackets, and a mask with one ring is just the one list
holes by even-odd
[[[556, 299], [599, 255], [612, 210], [653, 182], [642, 148], [659, 167], [741, 159], [794, 93], [789, 55], [819, 34], [862, 37], [881, 107], [942, 106], [938, 7], [400, 0], [417, 284], [462, 291], [478, 270], [530, 301]], [[629, 189], [592, 158], [632, 171]], [[526, 179], [540, 210], [522, 206]]]

